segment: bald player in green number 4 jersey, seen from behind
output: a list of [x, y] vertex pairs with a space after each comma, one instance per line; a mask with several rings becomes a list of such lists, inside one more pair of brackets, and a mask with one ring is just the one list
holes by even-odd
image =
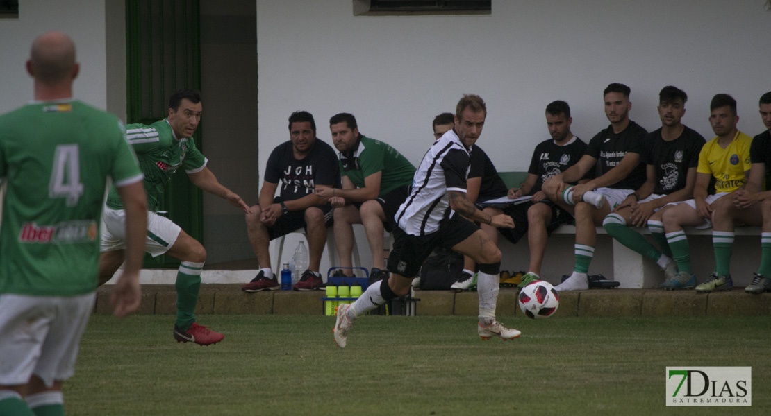
[[0, 116], [0, 414], [64, 414], [62, 383], [96, 298], [99, 217], [107, 178], [126, 206], [126, 266], [111, 302], [140, 305], [146, 228], [142, 173], [120, 121], [72, 98], [75, 44], [61, 32], [32, 44], [35, 100]]

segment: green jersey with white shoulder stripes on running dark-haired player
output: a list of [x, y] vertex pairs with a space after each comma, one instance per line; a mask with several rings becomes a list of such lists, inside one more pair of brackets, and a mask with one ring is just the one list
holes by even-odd
[[[176, 138], [166, 118], [152, 125], [126, 125], [126, 136], [140, 160], [145, 175], [144, 187], [147, 192], [147, 208], [157, 211], [163, 187], [171, 175], [182, 166], [185, 171], [196, 173], [206, 167], [207, 158], [198, 151], [191, 138]], [[118, 192], [109, 190], [107, 206], [123, 209]]]

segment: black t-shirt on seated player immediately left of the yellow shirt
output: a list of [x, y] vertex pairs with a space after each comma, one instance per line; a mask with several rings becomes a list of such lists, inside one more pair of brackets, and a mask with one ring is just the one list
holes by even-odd
[[699, 166], [704, 137], [692, 128], [684, 127], [682, 134], [672, 141], [662, 138], [661, 128], [645, 136], [645, 154], [641, 155], [641, 160], [656, 168], [654, 194], [669, 195], [685, 188], [688, 169]]

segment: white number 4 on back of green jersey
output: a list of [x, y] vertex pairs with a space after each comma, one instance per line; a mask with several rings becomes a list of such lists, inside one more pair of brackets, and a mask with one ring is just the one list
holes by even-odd
[[49, 182], [49, 198], [67, 198], [66, 205], [74, 207], [78, 205], [81, 195], [83, 184], [80, 183], [78, 145], [56, 146]]

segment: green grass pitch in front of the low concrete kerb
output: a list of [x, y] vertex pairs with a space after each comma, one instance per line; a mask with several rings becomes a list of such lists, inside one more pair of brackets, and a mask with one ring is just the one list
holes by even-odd
[[[207, 315], [220, 344], [173, 340], [173, 317], [95, 314], [69, 416], [769, 414], [771, 317], [501, 317], [522, 336], [481, 341], [471, 317]], [[752, 366], [751, 408], [665, 406], [667, 366]]]

